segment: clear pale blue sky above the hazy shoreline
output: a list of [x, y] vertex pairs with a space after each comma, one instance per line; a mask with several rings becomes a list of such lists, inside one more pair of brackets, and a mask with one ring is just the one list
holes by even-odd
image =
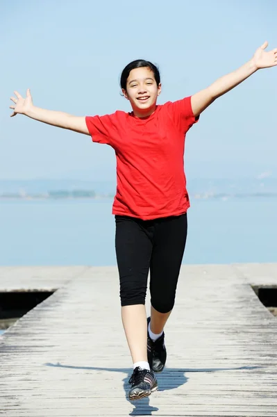
[[[115, 178], [115, 154], [89, 136], [10, 117], [10, 97], [73, 115], [130, 111], [119, 77], [158, 64], [158, 104], [208, 87], [277, 47], [275, 0], [13, 0], [0, 2], [0, 179]], [[190, 178], [277, 177], [277, 67], [219, 97], [187, 133]]]

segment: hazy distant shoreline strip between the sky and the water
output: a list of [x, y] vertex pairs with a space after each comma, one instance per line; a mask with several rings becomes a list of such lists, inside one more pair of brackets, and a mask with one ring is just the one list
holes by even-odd
[[[265, 172], [260, 178], [248, 179], [190, 179], [190, 198], [218, 201], [227, 199], [262, 199], [277, 197], [277, 179]], [[0, 179], [0, 201], [91, 201], [113, 199], [116, 181], [81, 180], [18, 180]]]

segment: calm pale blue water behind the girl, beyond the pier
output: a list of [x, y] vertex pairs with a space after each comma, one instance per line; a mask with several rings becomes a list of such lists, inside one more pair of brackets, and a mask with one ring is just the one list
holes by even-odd
[[[277, 198], [192, 199], [184, 263], [277, 262]], [[112, 200], [0, 202], [0, 265], [115, 265]]]

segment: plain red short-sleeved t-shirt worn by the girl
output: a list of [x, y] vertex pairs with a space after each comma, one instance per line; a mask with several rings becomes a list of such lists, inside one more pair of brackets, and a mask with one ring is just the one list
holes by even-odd
[[116, 111], [85, 120], [94, 142], [115, 149], [117, 193], [112, 214], [151, 220], [187, 211], [185, 134], [197, 121], [191, 97], [159, 105], [146, 119]]

